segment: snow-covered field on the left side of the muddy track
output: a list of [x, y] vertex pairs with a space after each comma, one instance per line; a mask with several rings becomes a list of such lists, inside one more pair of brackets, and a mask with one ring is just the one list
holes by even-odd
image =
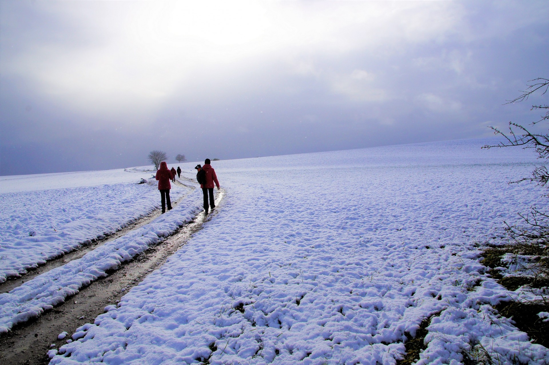
[[[0, 282], [115, 233], [158, 209], [150, 171], [109, 170], [0, 178]], [[172, 199], [191, 189], [173, 184]]]

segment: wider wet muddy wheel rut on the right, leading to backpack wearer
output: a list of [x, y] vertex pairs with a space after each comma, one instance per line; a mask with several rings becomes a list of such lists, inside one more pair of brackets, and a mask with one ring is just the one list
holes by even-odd
[[[59, 349], [78, 327], [85, 323], [93, 323], [94, 318], [104, 313], [106, 306], [116, 305], [127, 290], [142, 282], [150, 272], [164, 265], [194, 233], [200, 231], [204, 223], [217, 214], [224, 195], [223, 190], [217, 193], [217, 208], [209, 215], [200, 212], [193, 221], [184, 224], [170, 237], [150, 246], [132, 260], [122, 263], [118, 269], [109, 272], [108, 277], [99, 278], [88, 287], [80, 289], [79, 293], [66, 298], [63, 304], [44, 312], [42, 316], [15, 325], [9, 333], [0, 337], [0, 363], [47, 364], [48, 350]], [[63, 340], [58, 340], [57, 336], [64, 331], [69, 335]], [[52, 344], [54, 346], [51, 346]]]

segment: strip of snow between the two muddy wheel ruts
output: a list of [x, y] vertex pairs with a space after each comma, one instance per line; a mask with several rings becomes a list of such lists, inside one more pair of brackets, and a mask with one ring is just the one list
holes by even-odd
[[8, 332], [16, 323], [41, 315], [44, 310], [77, 293], [82, 286], [106, 276], [121, 262], [168, 237], [202, 209], [201, 199], [201, 189], [195, 189], [153, 222], [88, 252], [81, 259], [43, 273], [9, 293], [0, 294], [0, 333]]

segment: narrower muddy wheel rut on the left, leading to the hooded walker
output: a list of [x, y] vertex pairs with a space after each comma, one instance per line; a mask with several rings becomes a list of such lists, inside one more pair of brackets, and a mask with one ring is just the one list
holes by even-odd
[[[181, 183], [177, 180], [176, 180], [176, 182], [177, 182], [178, 185], [184, 186], [184, 187], [187, 187], [187, 188], [191, 188], [192, 190], [194, 190], [196, 188], [195, 186], [183, 184], [183, 183]], [[184, 198], [185, 198], [185, 196], [182, 196], [180, 199], [175, 201], [173, 204], [175, 205], [175, 204], [179, 203]], [[111, 234], [104, 234], [104, 235], [99, 236], [98, 238], [94, 238], [94, 239], [91, 240], [91, 242], [89, 244], [82, 244], [79, 247], [76, 247], [74, 250], [72, 250], [70, 252], [67, 252], [64, 255], [57, 256], [52, 260], [48, 260], [46, 263], [44, 263], [43, 265], [38, 266], [37, 268], [27, 269], [27, 272], [25, 274], [21, 274], [21, 276], [19, 276], [19, 277], [8, 277], [8, 280], [6, 280], [3, 283], [0, 283], [0, 294], [1, 293], [8, 293], [9, 291], [19, 287], [24, 282], [27, 282], [27, 281], [37, 277], [38, 275], [43, 274], [44, 272], [48, 272], [53, 268], [63, 266], [63, 265], [65, 265], [65, 263], [67, 263], [69, 261], [80, 259], [82, 256], [86, 255], [89, 251], [93, 251], [96, 248], [98, 248], [99, 246], [102, 246], [107, 242], [111, 242], [111, 241], [113, 241], [113, 240], [115, 240], [119, 237], [122, 237], [123, 235], [127, 234], [128, 232], [133, 231], [133, 229], [137, 229], [139, 227], [144, 226], [147, 223], [152, 222], [153, 220], [158, 218], [161, 214], [162, 214], [162, 212], [160, 211], [160, 209], [155, 209], [152, 212], [150, 212], [150, 214], [139, 218], [138, 220], [136, 220], [133, 223], [128, 224], [126, 227], [120, 229], [119, 231], [116, 231], [116, 232], [111, 233]]]

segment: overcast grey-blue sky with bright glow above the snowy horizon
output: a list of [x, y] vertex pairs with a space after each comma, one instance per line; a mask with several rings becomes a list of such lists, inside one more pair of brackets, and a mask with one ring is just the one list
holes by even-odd
[[[491, 136], [543, 1], [0, 1], [0, 175]], [[536, 119], [537, 118], [537, 119]]]

